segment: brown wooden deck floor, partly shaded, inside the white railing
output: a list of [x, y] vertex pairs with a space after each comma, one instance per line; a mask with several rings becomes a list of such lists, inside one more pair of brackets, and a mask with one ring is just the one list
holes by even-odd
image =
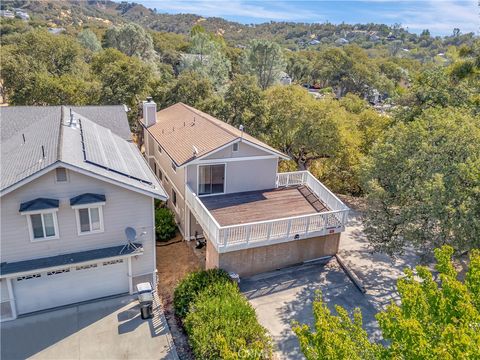
[[200, 199], [220, 226], [328, 211], [306, 186], [208, 196]]

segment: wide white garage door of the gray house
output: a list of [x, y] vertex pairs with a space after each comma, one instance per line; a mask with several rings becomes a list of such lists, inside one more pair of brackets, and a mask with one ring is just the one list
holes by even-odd
[[126, 293], [127, 260], [72, 266], [12, 279], [18, 314]]

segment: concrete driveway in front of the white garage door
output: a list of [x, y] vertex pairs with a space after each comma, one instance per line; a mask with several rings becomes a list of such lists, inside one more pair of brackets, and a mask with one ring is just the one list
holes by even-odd
[[123, 296], [38, 313], [1, 324], [1, 358], [177, 359], [161, 307], [142, 320]]

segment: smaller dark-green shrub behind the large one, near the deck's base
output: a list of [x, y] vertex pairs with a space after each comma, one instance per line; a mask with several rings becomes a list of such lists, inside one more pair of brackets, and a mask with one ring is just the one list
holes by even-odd
[[188, 313], [190, 304], [195, 301], [200, 291], [212, 284], [226, 283], [229, 281], [230, 277], [228, 273], [220, 269], [190, 273], [175, 288], [173, 295], [175, 313], [183, 319]]

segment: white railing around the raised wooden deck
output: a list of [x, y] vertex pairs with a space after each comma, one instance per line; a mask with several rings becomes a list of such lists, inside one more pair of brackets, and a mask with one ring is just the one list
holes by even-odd
[[186, 186], [186, 201], [218, 252], [305, 239], [345, 230], [348, 207], [308, 171], [277, 174], [277, 187], [307, 185], [331, 211], [248, 224], [220, 226], [198, 196]]

